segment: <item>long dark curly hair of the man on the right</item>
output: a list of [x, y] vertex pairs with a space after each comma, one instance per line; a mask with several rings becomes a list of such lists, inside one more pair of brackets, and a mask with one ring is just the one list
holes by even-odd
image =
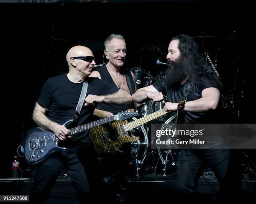
[[212, 82], [220, 90], [223, 88], [213, 68], [200, 55], [199, 46], [192, 37], [188, 35], [177, 35], [172, 40], [179, 40], [178, 48], [181, 52], [181, 57], [186, 63], [184, 73], [190, 80], [198, 85]]

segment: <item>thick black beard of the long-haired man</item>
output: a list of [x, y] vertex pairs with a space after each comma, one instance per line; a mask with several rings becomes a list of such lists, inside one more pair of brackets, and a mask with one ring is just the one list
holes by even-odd
[[185, 74], [187, 63], [182, 57], [169, 63], [170, 65], [166, 70], [166, 85], [168, 87], [180, 87], [180, 83], [187, 77]]

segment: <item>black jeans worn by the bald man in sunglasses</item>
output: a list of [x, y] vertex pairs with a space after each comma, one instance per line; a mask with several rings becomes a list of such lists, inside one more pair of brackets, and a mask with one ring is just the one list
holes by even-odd
[[[33, 187], [30, 191], [32, 203], [44, 203], [49, 197], [51, 189], [64, 169], [71, 178], [80, 203], [91, 202], [91, 191], [97, 189], [100, 181], [95, 171], [91, 147], [88, 146], [78, 152], [54, 152], [48, 159], [38, 166], [34, 175]], [[102, 186], [102, 185], [100, 185]]]

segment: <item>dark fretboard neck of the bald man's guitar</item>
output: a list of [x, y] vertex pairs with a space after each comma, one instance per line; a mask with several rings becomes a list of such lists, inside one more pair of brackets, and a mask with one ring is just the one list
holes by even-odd
[[113, 115], [111, 117], [103, 118], [103, 119], [100, 119], [100, 120], [97, 120], [97, 121], [94, 121], [94, 122], [90, 122], [90, 123], [87, 123], [87, 124], [83, 124], [83, 125], [80, 125], [78, 127], [74, 127], [74, 128], [69, 129], [70, 134], [71, 135], [76, 134], [76, 133], [85, 131], [87, 129], [91, 129], [91, 128], [96, 127], [96, 126], [99, 126], [99, 125], [102, 125], [102, 124], [105, 124], [105, 123], [108, 123], [108, 122], [112, 122], [114, 120], [115, 120], [115, 115]]

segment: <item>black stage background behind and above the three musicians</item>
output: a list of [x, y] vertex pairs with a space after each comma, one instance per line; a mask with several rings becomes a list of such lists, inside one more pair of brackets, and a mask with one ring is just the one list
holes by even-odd
[[[245, 1], [16, 3], [0, 4], [0, 10], [2, 51], [7, 54], [1, 68], [5, 123], [0, 177], [10, 176], [11, 161], [24, 132], [35, 127], [32, 111], [44, 82], [68, 71], [65, 56], [69, 48], [85, 45], [101, 64], [103, 42], [111, 33], [125, 37], [125, 66], [151, 70], [154, 76], [165, 68], [156, 65], [156, 59], [159, 55], [165, 61], [174, 35], [215, 36], [194, 39], [204, 45], [213, 62], [217, 60], [224, 92], [234, 96], [235, 108], [225, 112], [227, 121], [255, 123], [254, 94], [249, 89], [254, 68], [245, 65], [243, 56], [253, 13]], [[161, 54], [156, 52], [158, 47]], [[20, 162], [24, 165], [22, 158]]]

